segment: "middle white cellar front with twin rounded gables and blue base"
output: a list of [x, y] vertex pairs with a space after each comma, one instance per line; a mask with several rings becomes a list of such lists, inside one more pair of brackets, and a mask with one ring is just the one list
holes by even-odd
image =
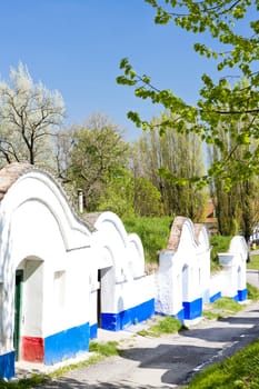
[[[93, 239], [99, 247], [99, 320], [101, 328], [120, 330], [155, 313], [153, 278], [145, 273], [139, 237], [128, 235], [117, 215], [99, 215], [94, 229]], [[92, 293], [91, 299], [96, 298]], [[94, 318], [91, 326], [93, 321]]]

